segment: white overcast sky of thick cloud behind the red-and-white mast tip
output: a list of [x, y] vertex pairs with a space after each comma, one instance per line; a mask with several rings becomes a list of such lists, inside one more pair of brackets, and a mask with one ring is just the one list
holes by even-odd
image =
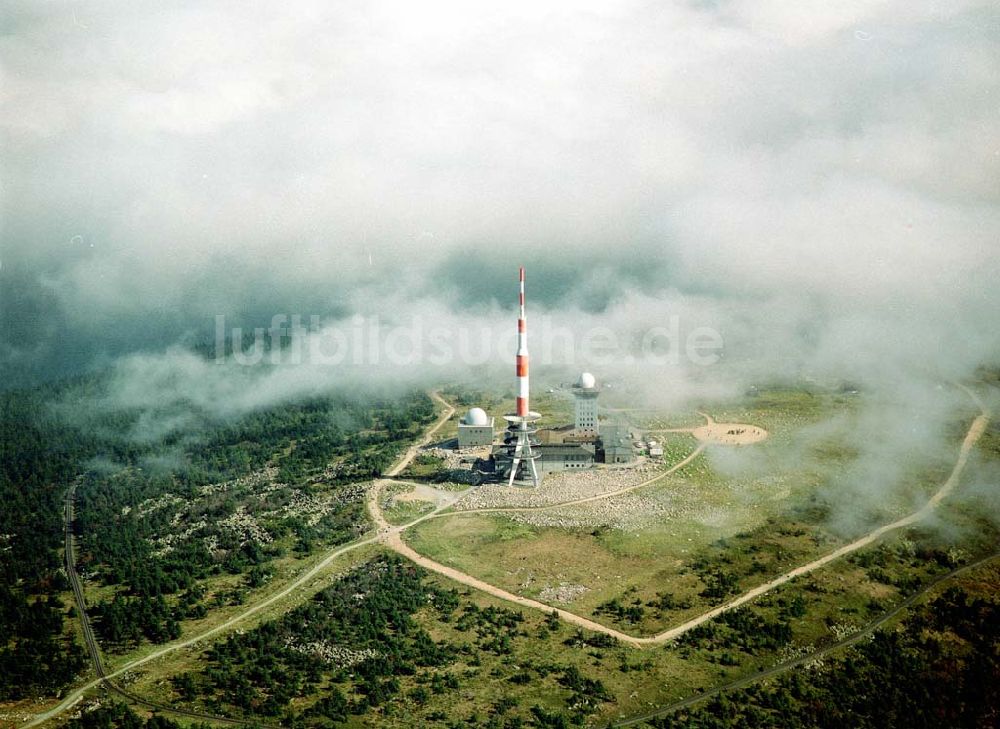
[[757, 372], [961, 376], [998, 38], [988, 0], [8, 0], [4, 381], [220, 314], [502, 318], [520, 263], [535, 314], [679, 314]]

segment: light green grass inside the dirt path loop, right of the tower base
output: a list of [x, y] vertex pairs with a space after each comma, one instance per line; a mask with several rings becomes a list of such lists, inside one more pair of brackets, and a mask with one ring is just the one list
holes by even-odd
[[[837, 407], [830, 398], [802, 391], [780, 392], [747, 403], [736, 413], [741, 421], [779, 429], [812, 422], [835, 413]], [[731, 415], [726, 408], [718, 412], [720, 419]], [[677, 416], [670, 417], [677, 422]], [[704, 422], [696, 414], [691, 419]], [[665, 466], [690, 455], [696, 445], [687, 433], [662, 434], [659, 440], [664, 445]], [[568, 607], [588, 616], [628, 593], [630, 604], [644, 607], [640, 619], [623, 622], [607, 613], [597, 619], [633, 633], [656, 632], [711, 604], [700, 595], [711, 586], [706, 583], [706, 578], [713, 580], [710, 569], [703, 567], [705, 574], [699, 575], [692, 566], [712, 552], [712, 545], [720, 539], [746, 534], [739, 548], [755, 550], [752, 558], [736, 554], [735, 547], [729, 550], [731, 554], [713, 553], [713, 559], [720, 560], [719, 569], [738, 575], [733, 589], [759, 584], [798, 560], [830, 548], [832, 542], [826, 535], [798, 524], [790, 513], [792, 505], [812, 493], [829, 463], [812, 459], [789, 468], [793, 462], [789, 450], [799, 456], [788, 440], [767, 440], [740, 449], [752, 459], [753, 469], [749, 477], [737, 478], [723, 472], [730, 465], [725, 461], [727, 449], [709, 448], [674, 474], [635, 492], [674, 514], [642, 528], [536, 528], [502, 515], [463, 515], [425, 522], [406, 538], [429, 557], [528, 597], [537, 599], [547, 588], [560, 584], [583, 585], [587, 591]], [[720, 457], [722, 462], [717, 463]], [[744, 470], [743, 464], [737, 465]], [[673, 605], [648, 608], [648, 603], [662, 602], [664, 594], [674, 598]]]

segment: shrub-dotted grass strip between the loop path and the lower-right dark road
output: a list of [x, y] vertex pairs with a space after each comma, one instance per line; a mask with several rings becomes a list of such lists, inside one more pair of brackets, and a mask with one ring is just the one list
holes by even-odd
[[[771, 531], [774, 530], [771, 525]], [[523, 540], [536, 534], [537, 530], [507, 523], [499, 525], [490, 539], [502, 547], [516, 549]], [[746, 538], [737, 541], [740, 543], [718, 544], [715, 548], [728, 556], [734, 552], [759, 555], [759, 551], [754, 551], [755, 545], [762, 544], [759, 539], [750, 545], [746, 544]], [[470, 603], [479, 609], [520, 613], [522, 621], [508, 634], [510, 640], [498, 647], [487, 640], [489, 631], [484, 633], [481, 627], [463, 627], [454, 618], [445, 620], [430, 609], [424, 611], [418, 615], [418, 621], [435, 640], [447, 640], [463, 648], [458, 658], [441, 670], [442, 677], [452, 687], [439, 692], [436, 684], [426, 678], [399, 676], [401, 690], [397, 700], [362, 717], [351, 716], [346, 725], [416, 727], [442, 725], [445, 720], [474, 725], [485, 723], [497, 714], [517, 716], [530, 724], [533, 707], [570, 716], [573, 713], [570, 707], [578, 704], [579, 695], [568, 687], [566, 677], [575, 670], [588, 680], [599, 680], [606, 689], [606, 699], [595, 701], [584, 710], [586, 724], [601, 726], [650, 711], [784, 658], [830, 645], [949, 569], [949, 551], [964, 553], [961, 559], [971, 561], [977, 550], [990, 546], [989, 541], [956, 544], [940, 532], [911, 530], [784, 585], [746, 608], [756, 621], [751, 624], [759, 624], [765, 631], [787, 625], [787, 636], [769, 648], [741, 648], [741, 641], [755, 640], [755, 636], [726, 627], [721, 621], [709, 624], [712, 627], [704, 635], [692, 636], [679, 644], [628, 648], [601, 636], [580, 633], [561, 621], [551, 623], [541, 612], [521, 610], [431, 574], [428, 582], [457, 589], [462, 605]], [[570, 553], [576, 544], [565, 542], [561, 549]], [[776, 546], [783, 544], [781, 540], [775, 542]], [[344, 566], [375, 551], [376, 548], [359, 550], [344, 560]], [[992, 580], [989, 584], [995, 590], [1000, 584], [997, 583], [1000, 572], [985, 571], [968, 579], [974, 579], [980, 586], [986, 584], [983, 580]], [[464, 610], [460, 608], [456, 616]], [[196, 668], [199, 656], [200, 650], [175, 655], [169, 663], [158, 661], [154, 671], [142, 676], [137, 688], [141, 687], [144, 695], [177, 701], [166, 679]], [[318, 690], [322, 692], [322, 687]]]

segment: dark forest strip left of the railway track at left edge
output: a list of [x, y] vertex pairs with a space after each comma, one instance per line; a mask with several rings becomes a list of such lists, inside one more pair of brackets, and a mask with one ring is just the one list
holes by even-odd
[[55, 595], [62, 496], [94, 442], [48, 412], [53, 392], [0, 394], [0, 699], [53, 692], [84, 665]]

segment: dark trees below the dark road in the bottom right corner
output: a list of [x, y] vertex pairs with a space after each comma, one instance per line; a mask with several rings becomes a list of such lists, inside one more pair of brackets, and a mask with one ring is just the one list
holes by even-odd
[[1000, 723], [1000, 599], [950, 588], [899, 629], [812, 671], [724, 694], [651, 724], [686, 727], [986, 727]]

